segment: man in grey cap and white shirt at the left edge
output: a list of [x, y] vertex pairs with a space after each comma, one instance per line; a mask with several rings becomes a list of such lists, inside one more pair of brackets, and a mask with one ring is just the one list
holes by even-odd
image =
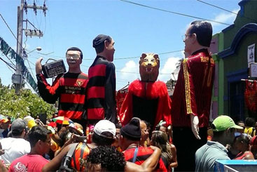
[[0, 159], [3, 159], [5, 164], [11, 164], [16, 158], [30, 152], [30, 144], [24, 139], [27, 135], [25, 121], [15, 119], [9, 133], [11, 137], [0, 140], [2, 150], [4, 150], [4, 154], [1, 155]]

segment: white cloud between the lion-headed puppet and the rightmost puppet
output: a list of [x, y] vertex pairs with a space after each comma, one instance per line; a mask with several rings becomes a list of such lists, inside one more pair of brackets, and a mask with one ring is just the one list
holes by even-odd
[[179, 57], [171, 57], [168, 58], [167, 61], [165, 62], [165, 65], [160, 69], [159, 72], [159, 77], [158, 79], [160, 81], [166, 82], [167, 80], [171, 79], [172, 77], [172, 72], [176, 70], [176, 63], [179, 61]]

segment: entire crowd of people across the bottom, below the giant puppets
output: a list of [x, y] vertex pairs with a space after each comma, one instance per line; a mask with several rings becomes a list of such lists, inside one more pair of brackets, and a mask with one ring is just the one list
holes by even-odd
[[[179, 166], [165, 121], [151, 133], [137, 117], [125, 126], [103, 119], [90, 131], [69, 123], [43, 124], [32, 117], [11, 122], [1, 115], [1, 134], [8, 131], [0, 140], [1, 171], [176, 171]], [[195, 153], [195, 171], [214, 171], [217, 159], [257, 159], [257, 125], [251, 136], [244, 122], [237, 124], [226, 115], [214, 119], [211, 139]]]

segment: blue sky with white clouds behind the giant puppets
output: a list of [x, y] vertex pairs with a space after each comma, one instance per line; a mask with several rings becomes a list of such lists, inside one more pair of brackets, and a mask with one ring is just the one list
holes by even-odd
[[[131, 1], [228, 24], [232, 24], [236, 18], [235, 14], [208, 6], [197, 0]], [[239, 0], [202, 1], [235, 13], [239, 10]], [[27, 0], [27, 4], [33, 4], [33, 2]], [[43, 0], [35, 0], [35, 2], [37, 5], [43, 5]], [[20, 0], [0, 0], [0, 13], [15, 35], [17, 34], [17, 6], [19, 5]], [[185, 33], [189, 23], [196, 20], [119, 0], [46, 0], [46, 6], [48, 6], [46, 17], [42, 11], [38, 11], [35, 15], [32, 9], [28, 9], [27, 15], [24, 13], [24, 19], [28, 19], [44, 34], [40, 39], [39, 37], [27, 37], [26, 39], [25, 34], [23, 35], [23, 46], [27, 52], [38, 46], [42, 48], [40, 52], [29, 53], [29, 62], [26, 60], [25, 65], [32, 68], [32, 72], [30, 72], [35, 75], [34, 64], [37, 58], [43, 57], [43, 64], [48, 58], [66, 61], [67, 48], [77, 46], [81, 48], [84, 56], [81, 70], [87, 74], [88, 67], [95, 58], [92, 39], [97, 34], [109, 34], [116, 42], [113, 63], [116, 65], [117, 90], [126, 86], [128, 81], [132, 82], [134, 79], [140, 78], [138, 62], [141, 53], [165, 53], [159, 55], [160, 74], [158, 79], [165, 82], [169, 80], [177, 60], [183, 58], [183, 51], [179, 51], [184, 48], [181, 36]], [[212, 24], [214, 34], [228, 27], [214, 22]], [[1, 18], [0, 37], [16, 51], [16, 39]], [[179, 52], [166, 53], [170, 51]], [[1, 53], [0, 57], [8, 61]], [[66, 65], [66, 67], [68, 66]], [[11, 84], [12, 74], [13, 71], [0, 60], [2, 84]], [[52, 81], [48, 80], [48, 82], [51, 84]]]

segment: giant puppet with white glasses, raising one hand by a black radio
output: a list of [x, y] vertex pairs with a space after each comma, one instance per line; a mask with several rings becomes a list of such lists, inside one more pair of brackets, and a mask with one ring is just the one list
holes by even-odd
[[85, 126], [83, 114], [85, 113], [85, 88], [88, 84], [88, 74], [81, 71], [83, 53], [77, 47], [71, 47], [66, 52], [69, 70], [60, 74], [53, 81], [52, 86], [46, 81], [42, 73], [41, 61], [36, 61], [36, 78], [41, 98], [48, 103], [59, 101], [58, 116], [68, 117], [74, 122]]

